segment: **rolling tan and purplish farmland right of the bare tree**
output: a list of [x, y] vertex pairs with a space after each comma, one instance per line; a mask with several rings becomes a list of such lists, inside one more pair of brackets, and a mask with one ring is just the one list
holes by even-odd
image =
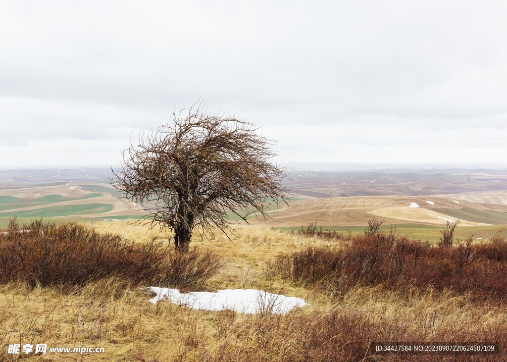
[[484, 239], [507, 225], [505, 174], [461, 169], [293, 171], [287, 185], [313, 198], [289, 203], [270, 219], [251, 223], [289, 230], [317, 223], [324, 230], [354, 234], [377, 218], [383, 228], [392, 225], [414, 238], [438, 240], [446, 221], [460, 220], [458, 237]]

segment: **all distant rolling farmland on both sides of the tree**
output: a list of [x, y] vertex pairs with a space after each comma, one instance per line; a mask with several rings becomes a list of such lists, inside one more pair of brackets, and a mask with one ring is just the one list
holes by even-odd
[[[146, 213], [121, 198], [108, 169], [54, 169], [0, 172], [0, 227], [16, 215], [20, 223], [138, 220]], [[502, 170], [310, 171], [293, 169], [285, 180], [293, 197], [272, 204], [269, 218], [248, 223], [298, 229], [362, 232], [377, 218], [417, 238], [438, 239], [446, 221], [460, 220], [457, 236], [487, 238], [507, 225], [507, 172]], [[55, 180], [56, 179], [56, 180]], [[14, 187], [17, 185], [17, 187]], [[240, 222], [230, 212], [230, 219]]]

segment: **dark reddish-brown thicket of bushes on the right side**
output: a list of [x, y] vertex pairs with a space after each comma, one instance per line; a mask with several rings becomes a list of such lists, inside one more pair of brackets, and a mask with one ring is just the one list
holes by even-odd
[[283, 278], [346, 292], [352, 285], [396, 287], [414, 284], [473, 292], [476, 298], [507, 297], [507, 241], [500, 232], [474, 244], [473, 236], [454, 246], [430, 246], [372, 223], [365, 235], [340, 247], [309, 247], [279, 256], [269, 265]]

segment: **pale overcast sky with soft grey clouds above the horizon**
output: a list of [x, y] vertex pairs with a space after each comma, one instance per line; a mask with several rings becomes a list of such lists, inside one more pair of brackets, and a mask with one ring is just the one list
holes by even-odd
[[504, 1], [1, 1], [0, 167], [116, 165], [201, 99], [277, 161], [505, 164]]

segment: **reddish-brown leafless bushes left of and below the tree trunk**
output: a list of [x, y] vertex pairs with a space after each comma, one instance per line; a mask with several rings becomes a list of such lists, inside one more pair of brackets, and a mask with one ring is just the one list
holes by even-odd
[[75, 223], [20, 228], [13, 219], [0, 234], [0, 283], [79, 285], [118, 276], [132, 284], [198, 287], [220, 266], [211, 252], [179, 255], [160, 241], [135, 243]]

